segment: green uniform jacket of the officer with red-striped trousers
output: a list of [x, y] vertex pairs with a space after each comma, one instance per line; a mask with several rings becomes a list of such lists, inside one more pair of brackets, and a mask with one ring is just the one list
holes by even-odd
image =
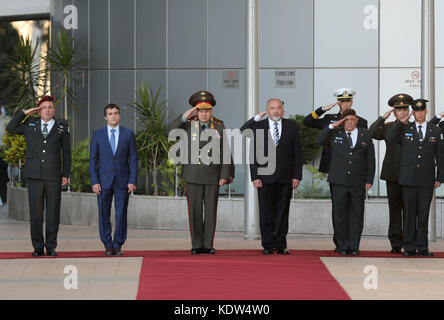
[[[210, 123], [211, 122], [211, 123]], [[212, 156], [212, 150], [210, 150], [209, 153], [203, 154], [200, 152], [202, 148], [205, 147], [206, 144], [211, 142], [212, 137], [210, 137], [207, 141], [199, 141], [199, 137], [202, 133], [202, 129], [200, 128], [200, 122], [197, 119], [197, 117], [194, 117], [190, 120], [187, 120], [186, 122], [182, 121], [182, 116], [178, 117], [176, 120], [171, 122], [168, 125], [167, 131], [170, 132], [173, 129], [184, 129], [187, 133], [188, 138], [188, 163], [182, 164], [182, 179], [184, 182], [187, 183], [195, 183], [195, 184], [219, 184], [220, 179], [226, 179], [228, 180], [230, 177], [234, 178], [234, 164], [231, 161], [231, 164], [224, 164], [223, 163], [223, 145], [225, 143], [226, 136], [224, 133], [224, 123], [223, 121], [212, 117], [212, 120], [210, 120], [210, 126], [212, 129], [217, 130], [217, 138], [220, 139], [220, 160], [219, 163], [208, 163], [208, 159]], [[192, 128], [191, 126], [196, 126], [195, 130], [198, 129], [198, 133], [196, 133], [195, 136], [193, 136]], [[193, 130], [194, 131], [194, 130]], [[191, 146], [192, 141], [194, 139], [194, 143], [197, 141], [199, 142], [199, 161], [197, 164], [193, 164], [191, 162]], [[206, 157], [206, 159], [204, 159]], [[208, 164], [205, 164], [208, 163]]]

